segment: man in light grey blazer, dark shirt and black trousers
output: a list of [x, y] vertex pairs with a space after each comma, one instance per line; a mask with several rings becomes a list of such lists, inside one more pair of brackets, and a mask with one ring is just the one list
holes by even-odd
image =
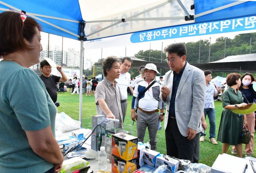
[[202, 70], [186, 61], [183, 43], [165, 48], [170, 71], [165, 74], [162, 99], [167, 102], [165, 138], [167, 155], [178, 159], [199, 161], [199, 132], [204, 110], [205, 79]]

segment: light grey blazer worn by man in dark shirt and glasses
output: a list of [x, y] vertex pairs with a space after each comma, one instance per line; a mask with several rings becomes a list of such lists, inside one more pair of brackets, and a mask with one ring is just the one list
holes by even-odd
[[[165, 86], [172, 92], [173, 73], [168, 71], [165, 74]], [[183, 71], [175, 98], [175, 115], [179, 131], [182, 136], [187, 136], [188, 127], [202, 131], [201, 117], [204, 110], [206, 93], [205, 77], [202, 70], [187, 65]], [[166, 116], [164, 127], [168, 122], [171, 93], [167, 96]]]

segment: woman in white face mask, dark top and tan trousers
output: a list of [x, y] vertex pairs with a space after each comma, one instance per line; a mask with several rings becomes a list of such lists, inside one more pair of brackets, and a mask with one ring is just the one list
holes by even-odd
[[[249, 103], [253, 103], [254, 99], [256, 99], [256, 92], [253, 90], [253, 85], [252, 85], [253, 83], [255, 83], [253, 75], [251, 73], [244, 73], [241, 80], [242, 80], [242, 84], [239, 90], [242, 92], [244, 103], [247, 103], [247, 100]], [[255, 126], [254, 112], [250, 114], [246, 114], [246, 119], [244, 119], [244, 123], [247, 124], [251, 134], [251, 141], [249, 142], [249, 144], [245, 145], [245, 152], [246, 152], [245, 157], [251, 157], [253, 153], [253, 145], [254, 145], [254, 126]], [[235, 146], [232, 147], [231, 153], [232, 154], [237, 153]]]

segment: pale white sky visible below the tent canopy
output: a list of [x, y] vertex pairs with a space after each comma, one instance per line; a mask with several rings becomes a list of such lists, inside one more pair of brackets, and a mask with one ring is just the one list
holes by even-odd
[[[249, 32], [256, 32], [256, 30], [251, 30]], [[212, 34], [212, 35], [204, 35], [204, 36], [193, 36], [193, 37], [184, 37], [184, 38], [176, 38], [176, 39], [165, 39], [162, 41], [152, 41], [152, 42], [144, 42], [144, 43], [136, 43], [127, 46], [118, 46], [118, 47], [107, 47], [102, 48], [102, 58], [106, 58], [108, 56], [134, 56], [134, 54], [138, 53], [140, 50], [149, 50], [149, 47], [153, 50], [162, 50], [162, 42], [163, 42], [163, 49], [174, 42], [197, 42], [201, 39], [210, 39], [211, 37], [211, 44], [215, 43], [216, 38], [221, 36], [229, 37], [233, 39], [235, 35], [246, 33], [246, 32], [231, 32], [231, 33], [222, 33], [222, 34]], [[41, 44], [43, 49], [47, 48], [48, 45], [48, 34], [41, 32]], [[62, 49], [62, 37], [52, 35], [49, 36], [49, 45], [54, 48], [54, 46], [58, 46], [60, 50]], [[126, 47], [126, 55], [125, 55], [125, 47]], [[70, 39], [70, 38], [63, 38], [63, 50], [68, 50], [68, 48], [74, 48], [76, 51], [80, 51], [80, 41]], [[51, 48], [50, 48], [51, 50]], [[89, 49], [84, 51], [85, 60], [91, 60], [92, 62], [97, 62], [101, 58], [101, 48], [100, 49]], [[189, 56], [189, 55], [188, 55]]]

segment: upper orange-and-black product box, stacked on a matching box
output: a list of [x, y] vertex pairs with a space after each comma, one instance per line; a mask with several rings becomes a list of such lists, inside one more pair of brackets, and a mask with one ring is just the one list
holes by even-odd
[[[123, 132], [112, 135], [112, 154], [126, 161], [137, 158], [138, 138]], [[136, 159], [135, 159], [136, 160]]]

